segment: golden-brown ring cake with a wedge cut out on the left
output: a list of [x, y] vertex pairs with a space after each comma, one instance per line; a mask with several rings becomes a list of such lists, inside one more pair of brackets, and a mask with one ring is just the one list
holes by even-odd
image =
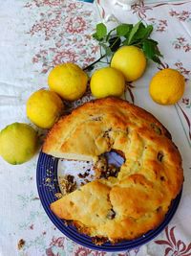
[[120, 151], [117, 176], [98, 178], [51, 204], [83, 233], [116, 243], [138, 238], [164, 219], [183, 182], [180, 152], [169, 132], [144, 109], [117, 98], [86, 103], [49, 132], [43, 151], [93, 160]]

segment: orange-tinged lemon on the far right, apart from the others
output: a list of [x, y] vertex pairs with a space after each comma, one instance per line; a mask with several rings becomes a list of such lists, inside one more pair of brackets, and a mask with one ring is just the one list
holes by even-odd
[[185, 81], [179, 71], [171, 68], [160, 70], [151, 80], [149, 92], [160, 105], [176, 104], [184, 92]]

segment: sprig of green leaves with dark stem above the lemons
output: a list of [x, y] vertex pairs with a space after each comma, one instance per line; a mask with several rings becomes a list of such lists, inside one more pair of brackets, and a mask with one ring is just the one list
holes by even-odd
[[[142, 49], [144, 55], [148, 59], [152, 59], [157, 63], [161, 63], [158, 42], [150, 38], [153, 32], [152, 25], [144, 25], [141, 21], [137, 24], [120, 24], [113, 30], [107, 30], [103, 23], [96, 25], [96, 33], [93, 37], [99, 42], [101, 57], [94, 63], [84, 68], [91, 70], [94, 65], [105, 57], [112, 57], [117, 49], [124, 45], [135, 45]], [[102, 54], [104, 52], [104, 54]]]

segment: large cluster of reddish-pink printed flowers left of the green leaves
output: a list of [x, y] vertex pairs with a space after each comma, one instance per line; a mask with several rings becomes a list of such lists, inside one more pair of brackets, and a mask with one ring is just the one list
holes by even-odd
[[82, 2], [63, 0], [36, 0], [25, 5], [31, 12], [42, 7], [47, 12], [39, 10], [39, 19], [27, 32], [40, 36], [42, 42], [50, 42], [45, 43], [46, 46], [42, 44], [32, 58], [33, 63], [41, 64], [42, 73], [46, 74], [53, 66], [66, 61], [84, 67], [96, 60], [99, 48], [91, 40], [95, 22], [92, 8], [85, 9]]

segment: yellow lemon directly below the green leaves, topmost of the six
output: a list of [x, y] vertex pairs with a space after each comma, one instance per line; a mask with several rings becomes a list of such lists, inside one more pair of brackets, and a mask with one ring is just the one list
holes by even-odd
[[121, 71], [126, 81], [136, 81], [145, 71], [146, 58], [138, 47], [122, 46], [114, 54], [111, 66]]

